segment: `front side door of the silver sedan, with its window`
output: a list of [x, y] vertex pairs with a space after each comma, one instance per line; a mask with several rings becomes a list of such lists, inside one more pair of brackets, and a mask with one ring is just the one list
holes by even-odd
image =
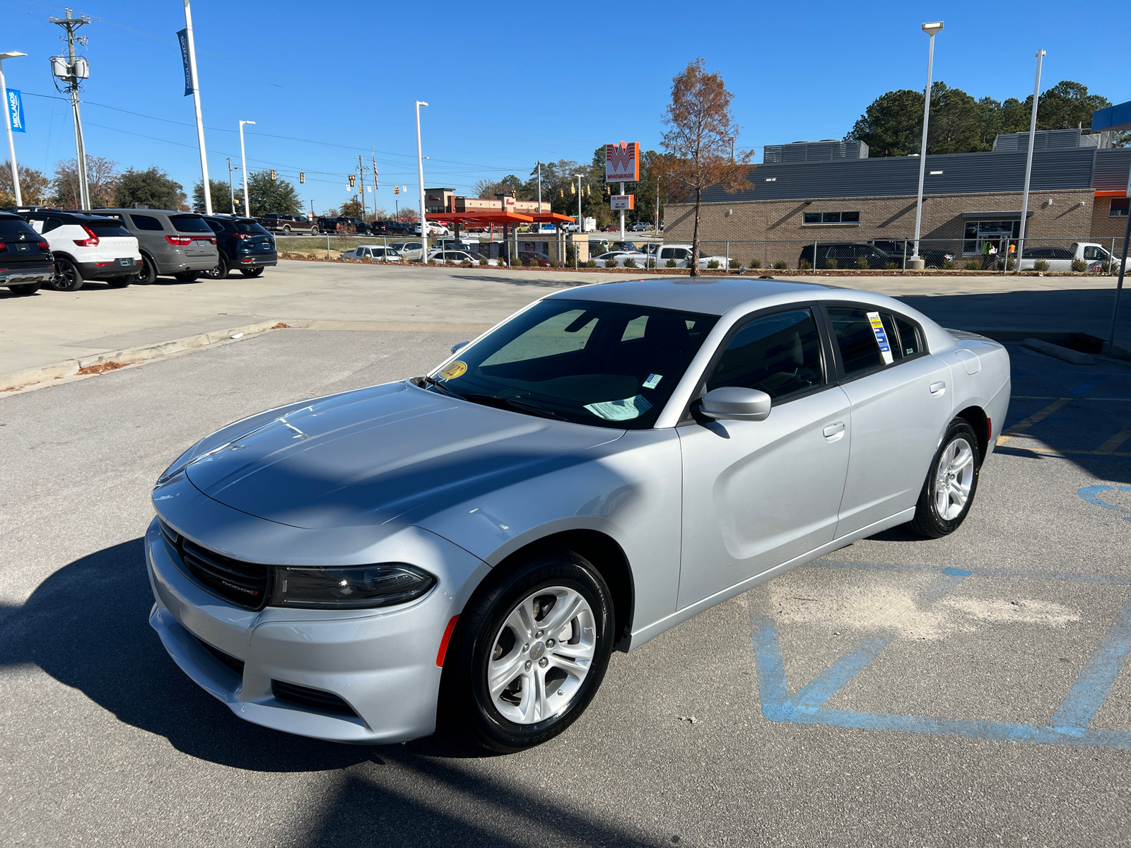
[[679, 607], [831, 542], [848, 468], [849, 404], [835, 383], [814, 304], [736, 326], [705, 389], [770, 395], [765, 421], [697, 418], [676, 431], [683, 461]]

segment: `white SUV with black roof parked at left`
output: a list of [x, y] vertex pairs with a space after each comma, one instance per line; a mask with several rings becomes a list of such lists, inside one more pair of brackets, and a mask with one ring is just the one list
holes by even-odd
[[24, 213], [23, 218], [51, 245], [59, 292], [77, 292], [88, 279], [124, 288], [141, 270], [138, 240], [118, 218], [48, 209]]

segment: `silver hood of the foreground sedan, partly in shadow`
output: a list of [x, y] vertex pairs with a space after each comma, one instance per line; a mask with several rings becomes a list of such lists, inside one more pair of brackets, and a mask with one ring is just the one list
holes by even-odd
[[241, 512], [354, 527], [577, 465], [580, 451], [623, 433], [391, 383], [293, 409], [192, 460], [185, 474]]

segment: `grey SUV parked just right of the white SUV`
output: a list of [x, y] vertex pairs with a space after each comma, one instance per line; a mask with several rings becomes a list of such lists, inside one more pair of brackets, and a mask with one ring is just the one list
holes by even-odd
[[196, 213], [97, 209], [95, 214], [119, 218], [137, 237], [143, 263], [138, 283], [154, 283], [158, 274], [191, 282], [215, 268], [219, 259], [215, 233]]

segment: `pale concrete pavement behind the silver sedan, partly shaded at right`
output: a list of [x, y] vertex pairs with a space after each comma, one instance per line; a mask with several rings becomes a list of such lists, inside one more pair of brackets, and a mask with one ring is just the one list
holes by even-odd
[[[783, 275], [784, 277], [784, 275]], [[41, 289], [15, 297], [0, 288], [0, 382], [27, 369], [218, 332], [266, 320], [487, 327], [550, 292], [623, 274], [498, 268], [396, 268], [283, 261], [262, 277], [78, 292]], [[785, 277], [784, 277], [785, 278]], [[787, 277], [863, 288], [903, 298], [947, 327], [972, 330], [1090, 332], [1106, 337], [1114, 278], [1072, 277]], [[1131, 294], [1131, 293], [1129, 293]], [[1131, 296], [1120, 336], [1131, 338]], [[421, 327], [422, 331], [425, 330]]]

